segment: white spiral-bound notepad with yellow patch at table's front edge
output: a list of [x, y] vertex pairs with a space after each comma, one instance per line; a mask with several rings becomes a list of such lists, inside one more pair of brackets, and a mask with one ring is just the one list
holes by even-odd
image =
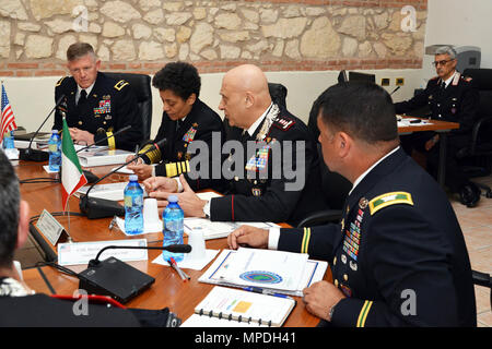
[[214, 287], [181, 327], [280, 327], [295, 300]]

